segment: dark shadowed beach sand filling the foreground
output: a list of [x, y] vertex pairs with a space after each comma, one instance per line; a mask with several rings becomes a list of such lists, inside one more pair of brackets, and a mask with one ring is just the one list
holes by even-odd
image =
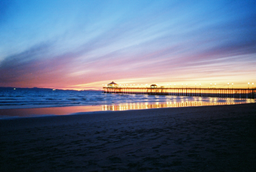
[[0, 171], [255, 172], [256, 103], [0, 120]]

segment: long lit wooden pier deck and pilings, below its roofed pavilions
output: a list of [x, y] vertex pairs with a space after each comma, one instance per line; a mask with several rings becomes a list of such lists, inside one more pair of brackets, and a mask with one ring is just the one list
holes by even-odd
[[256, 98], [256, 89], [205, 89], [205, 88], [111, 88], [103, 87], [102, 93], [115, 94], [144, 94], [164, 96], [201, 96], [201, 97], [230, 97]]

